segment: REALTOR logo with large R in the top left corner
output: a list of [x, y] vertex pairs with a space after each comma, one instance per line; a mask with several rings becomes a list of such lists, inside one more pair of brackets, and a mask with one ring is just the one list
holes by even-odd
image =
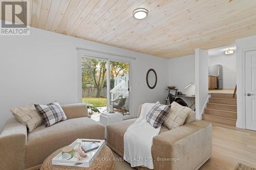
[[0, 0], [0, 35], [29, 35], [29, 0]]

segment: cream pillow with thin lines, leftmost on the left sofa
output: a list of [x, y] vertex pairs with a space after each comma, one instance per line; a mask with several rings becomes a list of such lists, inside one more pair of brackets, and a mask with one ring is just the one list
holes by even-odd
[[10, 110], [18, 122], [26, 125], [29, 132], [42, 124], [42, 118], [36, 111], [34, 104], [17, 107]]

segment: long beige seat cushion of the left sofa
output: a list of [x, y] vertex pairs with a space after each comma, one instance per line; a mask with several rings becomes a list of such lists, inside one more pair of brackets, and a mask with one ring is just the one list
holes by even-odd
[[50, 127], [41, 125], [28, 134], [26, 168], [41, 164], [50, 154], [77, 138], [104, 139], [104, 126], [88, 117], [68, 119]]

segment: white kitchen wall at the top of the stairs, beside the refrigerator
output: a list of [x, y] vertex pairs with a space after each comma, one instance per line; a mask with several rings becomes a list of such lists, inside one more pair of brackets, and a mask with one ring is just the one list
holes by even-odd
[[[219, 49], [222, 49], [220, 47]], [[218, 50], [218, 48], [211, 49]], [[209, 50], [209, 53], [210, 51]], [[223, 89], [234, 89], [237, 84], [237, 63], [236, 63], [236, 51], [233, 54], [225, 55], [224, 53], [217, 56], [209, 56], [208, 64], [223, 66]]]

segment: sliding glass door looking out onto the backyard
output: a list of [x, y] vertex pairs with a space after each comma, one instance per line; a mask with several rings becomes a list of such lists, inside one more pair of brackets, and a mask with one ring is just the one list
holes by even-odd
[[89, 117], [99, 121], [102, 112], [130, 115], [130, 63], [83, 56], [82, 103]]

